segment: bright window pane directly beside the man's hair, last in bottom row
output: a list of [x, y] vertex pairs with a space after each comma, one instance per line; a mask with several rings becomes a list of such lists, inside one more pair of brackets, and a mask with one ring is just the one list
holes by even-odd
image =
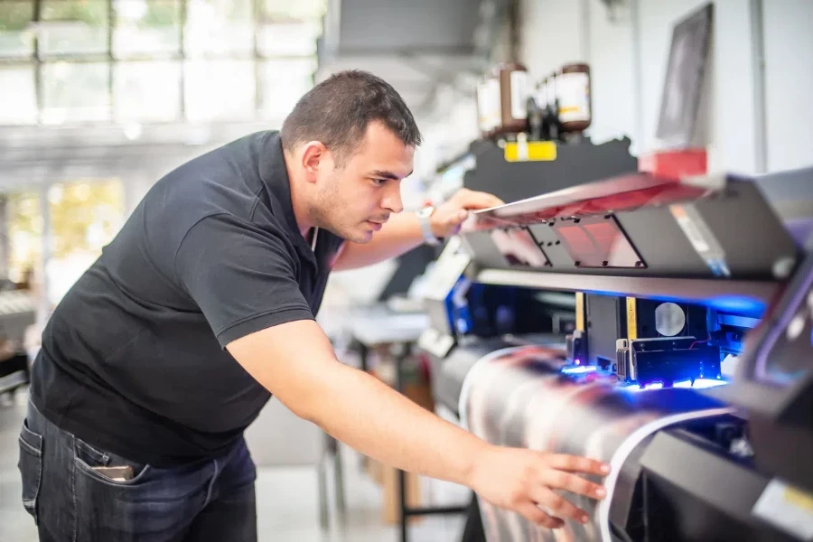
[[316, 61], [313, 59], [264, 61], [263, 117], [273, 119], [286, 117], [297, 100], [313, 88], [315, 70]]

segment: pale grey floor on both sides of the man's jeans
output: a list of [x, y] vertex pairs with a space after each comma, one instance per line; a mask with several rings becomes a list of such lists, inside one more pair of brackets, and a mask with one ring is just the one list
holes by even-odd
[[[35, 542], [33, 521], [20, 502], [17, 472], [17, 435], [27, 395], [18, 391], [0, 402], [0, 540]], [[342, 449], [347, 517], [338, 519], [331, 501], [331, 528], [319, 527], [316, 472], [310, 468], [263, 468], [258, 470], [257, 517], [260, 540], [274, 542], [397, 542], [395, 526], [381, 520], [382, 491], [360, 469], [360, 458]], [[332, 480], [332, 476], [329, 476]], [[425, 481], [424, 492], [438, 504], [465, 500], [460, 488]], [[285, 494], [279, 488], [285, 488]], [[333, 495], [332, 487], [329, 488]], [[450, 502], [452, 500], [452, 502]], [[410, 527], [410, 542], [456, 542], [463, 532], [463, 518], [423, 518]]]

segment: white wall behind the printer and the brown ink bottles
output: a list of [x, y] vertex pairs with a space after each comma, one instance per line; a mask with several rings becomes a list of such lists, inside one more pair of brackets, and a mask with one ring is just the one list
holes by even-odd
[[[524, 0], [521, 61], [532, 79], [565, 62], [593, 75], [597, 142], [629, 135], [634, 153], [655, 137], [672, 28], [706, 0], [626, 0], [611, 17], [599, 0]], [[757, 131], [750, 0], [715, 0], [706, 114], [698, 119], [712, 171], [756, 173]], [[767, 165], [813, 165], [813, 0], [764, 0]]]

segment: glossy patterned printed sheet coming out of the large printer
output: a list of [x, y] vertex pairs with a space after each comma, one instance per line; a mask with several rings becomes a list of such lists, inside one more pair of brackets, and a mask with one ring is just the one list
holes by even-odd
[[623, 519], [629, 512], [639, 467], [627, 460], [638, 443], [648, 442], [655, 431], [684, 418], [725, 411], [692, 389], [640, 390], [621, 386], [615, 375], [593, 367], [567, 367], [561, 345], [491, 352], [474, 365], [463, 383], [464, 427], [491, 444], [584, 455], [612, 463], [617, 472], [605, 480], [608, 497], [601, 505], [565, 495], [591, 515], [593, 521], [587, 525], [567, 521], [564, 528], [537, 528], [519, 514], [480, 500], [487, 539], [608, 539], [608, 519]]

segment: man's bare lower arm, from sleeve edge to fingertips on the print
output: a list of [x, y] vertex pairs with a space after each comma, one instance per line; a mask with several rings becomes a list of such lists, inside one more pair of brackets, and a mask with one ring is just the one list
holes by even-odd
[[316, 322], [279, 324], [232, 341], [227, 349], [295, 415], [398, 469], [467, 485], [483, 499], [550, 528], [561, 526], [557, 518], [587, 520], [583, 510], [552, 490], [603, 498], [601, 486], [573, 473], [606, 474], [602, 463], [487, 444], [343, 365]]

